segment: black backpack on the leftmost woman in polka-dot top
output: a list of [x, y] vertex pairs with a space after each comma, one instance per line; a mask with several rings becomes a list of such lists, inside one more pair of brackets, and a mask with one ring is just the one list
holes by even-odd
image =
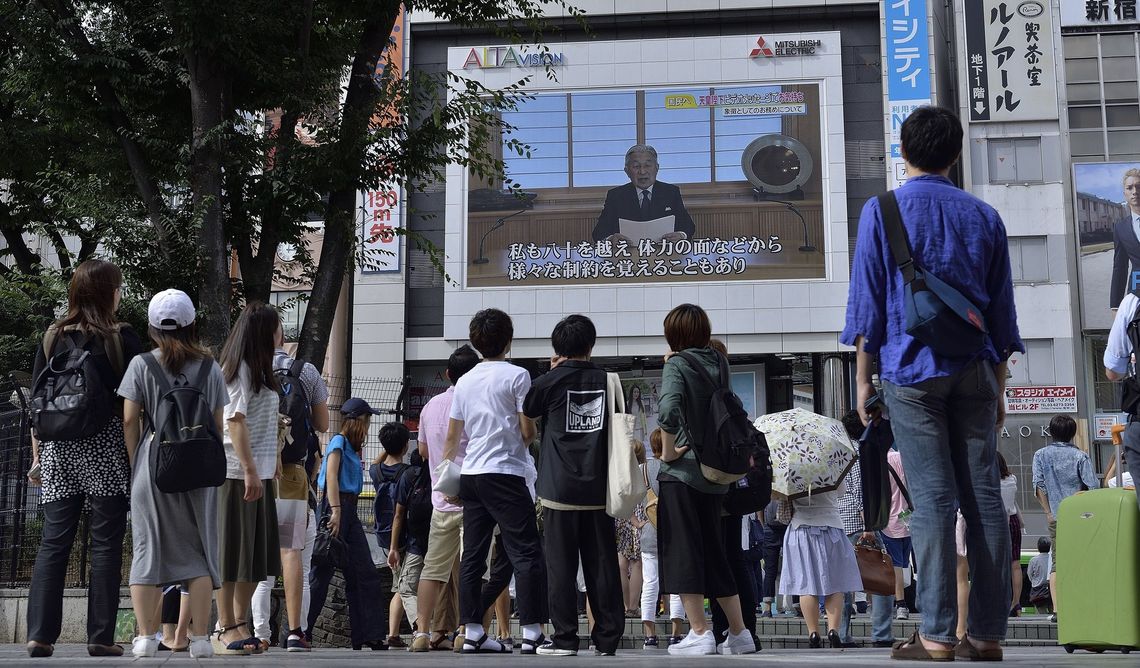
[[[81, 341], [76, 343], [67, 332], [52, 327], [43, 336], [46, 365], [32, 384], [28, 402], [32, 427], [41, 441], [93, 437], [107, 426], [115, 410], [111, 383], [99, 374], [90, 350], [95, 339], [82, 332], [79, 335]], [[56, 353], [60, 340], [66, 349]], [[112, 366], [122, 372], [123, 344], [117, 332], [106, 342], [106, 350]]]

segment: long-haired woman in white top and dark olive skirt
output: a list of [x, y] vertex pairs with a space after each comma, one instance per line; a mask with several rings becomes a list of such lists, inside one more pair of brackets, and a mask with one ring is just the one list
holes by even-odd
[[221, 589], [215, 596], [220, 653], [260, 653], [249, 627], [253, 592], [282, 573], [275, 476], [278, 472], [277, 310], [250, 303], [221, 349], [226, 406], [226, 482], [218, 491]]

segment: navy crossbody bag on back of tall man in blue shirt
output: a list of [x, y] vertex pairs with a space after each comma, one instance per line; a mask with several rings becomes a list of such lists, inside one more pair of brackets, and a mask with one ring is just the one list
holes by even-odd
[[906, 334], [942, 357], [964, 359], [976, 356], [990, 337], [982, 309], [948, 283], [919, 267], [911, 253], [895, 193], [887, 192], [878, 199], [890, 254], [903, 272]]

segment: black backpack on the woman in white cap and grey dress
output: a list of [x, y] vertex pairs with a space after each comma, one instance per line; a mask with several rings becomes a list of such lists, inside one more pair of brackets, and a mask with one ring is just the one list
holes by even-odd
[[213, 409], [202, 392], [213, 369], [212, 360], [202, 360], [194, 382], [179, 374], [171, 384], [154, 353], [148, 352], [142, 359], [154, 374], [160, 392], [158, 404], [149, 416], [154, 429], [150, 474], [155, 487], [166, 494], [177, 494], [221, 486], [226, 482], [226, 448]]

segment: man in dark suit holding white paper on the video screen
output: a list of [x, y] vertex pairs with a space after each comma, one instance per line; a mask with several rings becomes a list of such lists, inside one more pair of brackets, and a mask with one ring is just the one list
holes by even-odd
[[[626, 176], [629, 182], [610, 188], [605, 194], [605, 205], [594, 226], [594, 241], [622, 237], [618, 219], [646, 221], [665, 215], [674, 217], [674, 231], [663, 239], [677, 242], [693, 236], [693, 219], [681, 199], [681, 189], [673, 184], [657, 180], [657, 150], [652, 146], [637, 144], [626, 152]], [[634, 245], [637, 239], [628, 239]]]

